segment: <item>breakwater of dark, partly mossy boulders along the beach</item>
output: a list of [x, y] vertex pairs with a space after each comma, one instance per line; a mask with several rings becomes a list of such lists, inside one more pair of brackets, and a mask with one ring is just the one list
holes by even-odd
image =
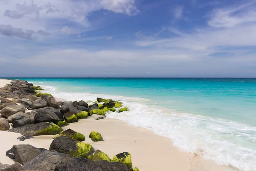
[[[100, 133], [83, 135], [62, 127], [92, 117], [104, 119], [108, 112], [128, 111], [121, 101], [97, 98], [92, 101], [56, 101], [39, 86], [23, 80], [14, 80], [0, 88], [0, 130], [21, 133], [22, 140], [39, 135], [56, 135], [49, 150], [31, 145], [13, 145], [6, 156], [13, 165], [0, 163], [0, 171], [139, 171], [132, 167], [131, 154], [123, 152], [113, 159], [103, 151], [83, 142], [104, 141]], [[10, 127], [10, 125], [11, 127]], [[11, 129], [10, 129], [11, 128]], [[90, 128], [86, 128], [90, 129]]]

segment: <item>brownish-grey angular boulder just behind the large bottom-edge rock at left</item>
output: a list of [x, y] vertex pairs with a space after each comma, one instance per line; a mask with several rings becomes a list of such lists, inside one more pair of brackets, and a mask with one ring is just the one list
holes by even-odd
[[15, 162], [19, 162], [20, 164], [25, 164], [30, 159], [38, 156], [47, 149], [44, 148], [35, 148], [32, 145], [14, 145], [13, 154], [15, 158]]

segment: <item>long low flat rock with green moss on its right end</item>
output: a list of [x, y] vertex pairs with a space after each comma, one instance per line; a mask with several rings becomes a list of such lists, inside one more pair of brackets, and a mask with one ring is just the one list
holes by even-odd
[[10, 132], [20, 133], [22, 135], [38, 136], [38, 135], [56, 135], [62, 129], [53, 123], [41, 122], [38, 124], [29, 124], [18, 128], [12, 128]]

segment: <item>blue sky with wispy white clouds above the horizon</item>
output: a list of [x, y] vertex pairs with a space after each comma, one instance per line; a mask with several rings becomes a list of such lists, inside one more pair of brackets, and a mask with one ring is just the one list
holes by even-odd
[[256, 0], [0, 0], [0, 77], [256, 77]]

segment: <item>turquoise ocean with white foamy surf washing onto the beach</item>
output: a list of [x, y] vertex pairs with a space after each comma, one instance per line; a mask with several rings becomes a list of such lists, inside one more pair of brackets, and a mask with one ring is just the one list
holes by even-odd
[[66, 100], [121, 100], [108, 118], [168, 137], [189, 153], [256, 171], [256, 78], [19, 78]]

